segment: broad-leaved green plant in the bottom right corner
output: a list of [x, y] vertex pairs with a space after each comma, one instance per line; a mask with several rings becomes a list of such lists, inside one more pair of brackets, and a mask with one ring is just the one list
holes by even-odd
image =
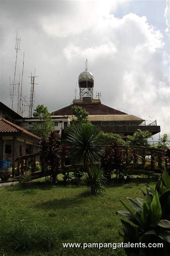
[[[137, 198], [137, 202], [128, 198], [127, 200], [131, 207], [126, 205], [122, 200], [120, 202], [127, 211], [117, 211], [117, 214], [125, 216], [129, 222], [121, 219], [124, 232], [124, 243], [163, 243], [164, 248], [125, 248], [128, 256], [150, 256], [157, 255], [155, 253], [163, 253], [162, 255], [169, 256], [170, 250], [170, 221], [165, 219], [165, 209], [169, 204], [170, 189], [164, 188], [164, 184], [169, 186], [170, 178], [164, 170], [162, 181], [156, 185], [156, 189], [146, 186], [146, 192], [142, 190], [145, 195], [144, 199]], [[163, 186], [163, 187], [162, 187]], [[157, 190], [164, 191], [160, 194]]]

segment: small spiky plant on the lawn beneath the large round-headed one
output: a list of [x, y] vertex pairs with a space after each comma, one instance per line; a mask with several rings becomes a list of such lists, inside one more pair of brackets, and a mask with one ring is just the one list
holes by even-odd
[[96, 195], [105, 191], [106, 179], [103, 176], [103, 168], [100, 166], [93, 166], [90, 168], [91, 176], [85, 176], [85, 185], [91, 189], [91, 194]]

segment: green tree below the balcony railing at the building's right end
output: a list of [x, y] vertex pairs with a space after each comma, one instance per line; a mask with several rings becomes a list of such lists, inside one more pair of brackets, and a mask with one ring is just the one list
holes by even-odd
[[151, 138], [152, 134], [149, 131], [141, 131], [138, 129], [132, 136], [128, 135], [129, 145], [131, 146], [144, 146], [149, 147], [150, 144], [147, 142], [148, 138]]

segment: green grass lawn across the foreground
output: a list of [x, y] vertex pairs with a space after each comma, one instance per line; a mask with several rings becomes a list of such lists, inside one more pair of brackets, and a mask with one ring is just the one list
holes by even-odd
[[[150, 184], [155, 187], [154, 183]], [[142, 197], [145, 184], [108, 187], [88, 196], [85, 187], [35, 183], [0, 190], [0, 255], [119, 255], [124, 250], [63, 248], [62, 243], [119, 243], [118, 198]]]

